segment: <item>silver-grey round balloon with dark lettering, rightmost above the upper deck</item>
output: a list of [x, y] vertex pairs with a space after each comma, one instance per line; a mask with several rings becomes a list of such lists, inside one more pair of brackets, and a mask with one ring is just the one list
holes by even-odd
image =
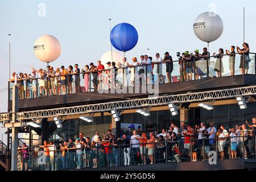
[[223, 28], [220, 16], [212, 12], [200, 14], [193, 24], [197, 38], [208, 43], [217, 40], [221, 36]]

